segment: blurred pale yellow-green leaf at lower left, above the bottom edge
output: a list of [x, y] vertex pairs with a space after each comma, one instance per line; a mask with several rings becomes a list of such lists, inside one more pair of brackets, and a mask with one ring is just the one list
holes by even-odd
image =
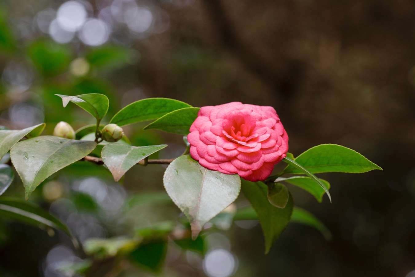
[[85, 241], [85, 253], [98, 259], [114, 257], [118, 253], [128, 253], [139, 244], [139, 240], [125, 237], [93, 238]]

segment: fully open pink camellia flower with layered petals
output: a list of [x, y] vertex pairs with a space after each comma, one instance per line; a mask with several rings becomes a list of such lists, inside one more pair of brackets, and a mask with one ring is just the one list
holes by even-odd
[[288, 151], [288, 135], [274, 108], [232, 102], [206, 106], [187, 136], [190, 155], [208, 169], [263, 181]]

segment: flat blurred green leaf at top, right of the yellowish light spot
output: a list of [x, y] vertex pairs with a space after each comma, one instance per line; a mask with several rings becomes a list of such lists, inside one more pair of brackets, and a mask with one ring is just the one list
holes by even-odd
[[90, 49], [85, 59], [96, 68], [114, 69], [134, 62], [137, 59], [137, 53], [125, 47], [104, 45]]

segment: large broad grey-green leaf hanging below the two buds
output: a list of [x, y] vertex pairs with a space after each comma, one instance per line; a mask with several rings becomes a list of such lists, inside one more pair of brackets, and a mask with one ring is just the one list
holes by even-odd
[[22, 179], [26, 199], [47, 177], [82, 159], [95, 146], [95, 142], [54, 136], [35, 137], [15, 144], [10, 157]]

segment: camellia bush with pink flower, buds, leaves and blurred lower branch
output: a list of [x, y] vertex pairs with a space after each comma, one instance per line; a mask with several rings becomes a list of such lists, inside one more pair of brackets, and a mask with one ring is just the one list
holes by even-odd
[[[23, 199], [1, 196], [2, 216], [59, 229], [72, 239], [85, 259], [63, 265], [62, 271], [69, 272], [68, 275], [103, 276], [102, 271], [105, 272], [111, 259], [116, 263], [134, 260], [157, 271], [163, 264], [168, 240], [203, 255], [203, 232], [236, 220], [259, 220], [265, 253], [290, 221], [313, 226], [330, 238], [323, 223], [294, 206], [286, 184], [312, 194], [318, 202], [325, 194], [331, 201], [329, 182], [315, 174], [381, 169], [358, 152], [340, 145], [317, 145], [297, 156], [291, 154], [288, 134], [276, 111], [268, 106], [232, 102], [195, 108], [173, 99], [148, 98], [122, 108], [106, 124], [103, 118], [110, 103], [105, 95], [56, 97], [62, 99], [64, 107], [77, 105], [88, 112], [96, 124], [75, 131], [62, 121], [54, 128], [53, 135], [42, 135], [44, 123], [23, 130], [2, 128], [0, 158], [10, 151], [10, 160], [0, 165], [0, 194], [15, 177], [12, 167], [22, 180], [27, 200], [45, 179], [78, 161], [106, 167], [115, 181], [135, 164], [144, 167], [168, 164], [163, 177], [168, 197], [143, 194], [142, 200], [172, 200], [184, 214], [177, 221], [139, 229], [132, 237], [97, 238], [80, 243], [68, 227], [43, 209]], [[167, 145], [131, 145], [122, 129], [146, 121], [151, 123], [144, 129], [183, 136], [186, 151], [173, 159], [149, 159]], [[273, 174], [274, 166], [280, 162], [286, 163], [286, 167]], [[232, 205], [241, 191], [251, 206]], [[101, 273], [96, 275], [96, 272]]]

